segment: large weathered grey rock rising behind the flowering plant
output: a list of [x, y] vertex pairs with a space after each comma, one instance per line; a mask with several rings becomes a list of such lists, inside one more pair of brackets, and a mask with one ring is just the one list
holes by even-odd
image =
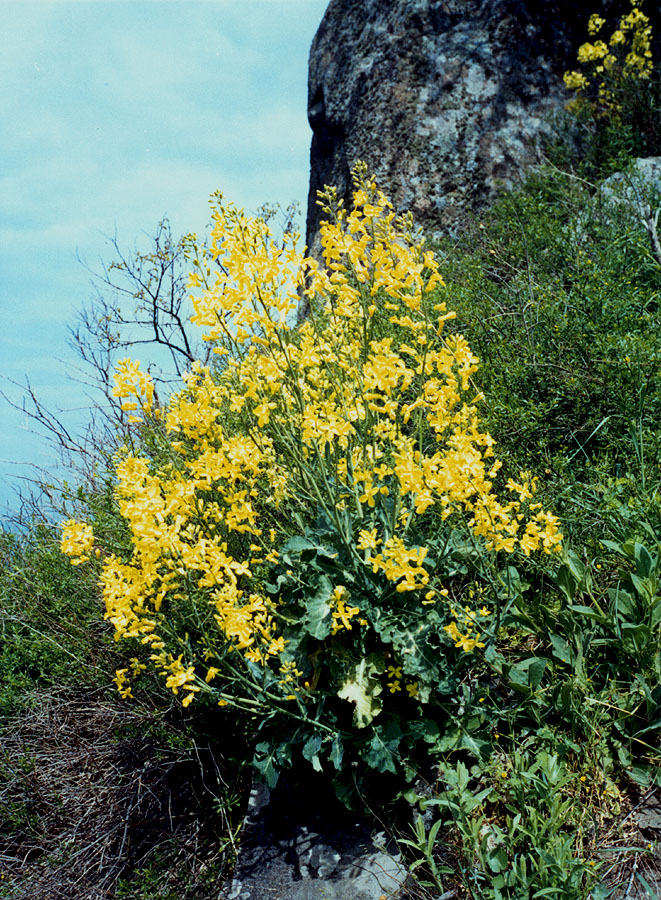
[[365, 160], [395, 207], [456, 227], [535, 156], [591, 12], [617, 0], [331, 0], [310, 51], [308, 246], [317, 190]]

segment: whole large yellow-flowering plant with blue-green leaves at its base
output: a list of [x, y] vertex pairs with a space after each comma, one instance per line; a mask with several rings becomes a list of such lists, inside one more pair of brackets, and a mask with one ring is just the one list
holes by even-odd
[[[215, 364], [163, 408], [137, 363], [116, 376], [130, 543], [100, 584], [117, 639], [144, 651], [118, 687], [148, 664], [184, 706], [255, 716], [271, 783], [295, 745], [317, 769], [349, 748], [391, 772], [440, 749], [444, 704], [520, 593], [513, 558], [561, 549], [534, 480], [499, 476], [433, 253], [364, 166], [354, 179], [350, 211], [322, 197], [323, 266], [218, 195], [190, 276]], [[72, 561], [87, 528], [65, 526]]]

